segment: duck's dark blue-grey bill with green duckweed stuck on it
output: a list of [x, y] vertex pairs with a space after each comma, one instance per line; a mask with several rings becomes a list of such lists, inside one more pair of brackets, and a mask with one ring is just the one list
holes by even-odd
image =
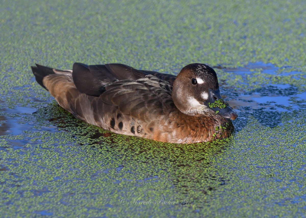
[[204, 101], [204, 104], [224, 118], [235, 120], [238, 117], [233, 108], [221, 98], [219, 89], [209, 89], [208, 99]]

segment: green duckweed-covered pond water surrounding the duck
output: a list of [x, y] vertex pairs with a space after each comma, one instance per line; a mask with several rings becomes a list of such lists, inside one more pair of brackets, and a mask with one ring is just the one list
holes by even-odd
[[[305, 11], [295, 0], [2, 1], [0, 216], [305, 217]], [[73, 61], [163, 73], [206, 63], [229, 103], [289, 103], [244, 100], [223, 142], [158, 143], [79, 121], [29, 68]]]

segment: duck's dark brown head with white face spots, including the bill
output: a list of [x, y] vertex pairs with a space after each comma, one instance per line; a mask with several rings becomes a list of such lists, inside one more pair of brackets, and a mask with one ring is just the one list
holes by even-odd
[[205, 64], [188, 64], [181, 70], [173, 84], [172, 99], [184, 114], [215, 113], [231, 120], [238, 117], [220, 96], [216, 72]]

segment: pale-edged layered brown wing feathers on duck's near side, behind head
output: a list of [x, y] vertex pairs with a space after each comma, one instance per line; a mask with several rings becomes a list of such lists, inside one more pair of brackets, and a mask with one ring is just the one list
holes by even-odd
[[[123, 114], [146, 119], [168, 114], [174, 107], [172, 85], [153, 75], [133, 80], [121, 80], [104, 86], [101, 103], [118, 106]], [[149, 115], [146, 115], [149, 114]]]

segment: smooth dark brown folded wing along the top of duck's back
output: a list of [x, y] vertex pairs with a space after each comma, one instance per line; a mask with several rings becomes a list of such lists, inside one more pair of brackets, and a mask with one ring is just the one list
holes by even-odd
[[173, 85], [174, 75], [162, 74], [155, 71], [137, 70], [125, 64], [98, 64], [86, 65], [82, 63], [73, 64], [73, 82], [81, 92], [91, 96], [101, 95], [104, 86], [114, 81], [137, 80], [151, 74], [155, 77], [169, 82]]

